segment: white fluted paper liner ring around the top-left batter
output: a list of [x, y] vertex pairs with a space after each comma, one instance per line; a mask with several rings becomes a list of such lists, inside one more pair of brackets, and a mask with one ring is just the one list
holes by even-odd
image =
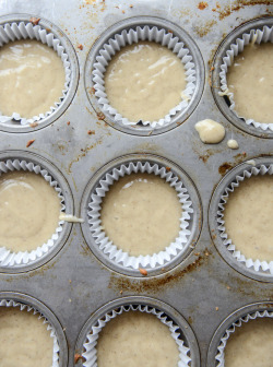
[[[4, 115], [2, 110], [0, 110], [0, 123], [8, 125], [8, 123], [20, 123], [25, 126], [32, 122], [38, 122], [46, 117], [54, 114], [59, 106], [62, 105], [67, 93], [69, 91], [70, 81], [71, 81], [71, 64], [69, 57], [66, 52], [64, 47], [61, 45], [60, 39], [54, 33], [49, 33], [48, 29], [45, 29], [40, 24], [33, 25], [32, 23], [7, 23], [0, 26], [0, 54], [2, 48], [10, 47], [11, 43], [25, 40], [26, 43], [39, 43], [43, 47], [48, 47], [50, 51], [56, 54], [56, 57], [59, 58], [59, 63], [62, 66], [62, 75], [64, 73], [63, 84], [60, 87], [60, 93], [58, 93], [57, 99], [52, 100], [52, 104], [47, 108], [47, 110], [35, 110], [35, 116], [31, 116], [29, 118], [25, 118], [17, 114], [15, 110], [12, 111], [10, 116]], [[44, 45], [45, 46], [44, 46]], [[45, 59], [44, 59], [45, 61]], [[22, 69], [21, 67], [17, 68], [19, 70]], [[38, 82], [38, 80], [36, 80]], [[47, 83], [47, 81], [46, 81]], [[27, 83], [26, 83], [27, 85]], [[36, 88], [37, 91], [43, 91], [43, 83], [39, 81], [39, 87]], [[37, 92], [35, 91], [35, 92]], [[37, 95], [39, 92], [37, 92]], [[17, 99], [27, 98], [27, 87], [23, 88], [22, 93], [20, 94]], [[35, 95], [36, 98], [36, 95]], [[36, 106], [35, 106], [36, 107]], [[38, 108], [38, 107], [37, 107]]]

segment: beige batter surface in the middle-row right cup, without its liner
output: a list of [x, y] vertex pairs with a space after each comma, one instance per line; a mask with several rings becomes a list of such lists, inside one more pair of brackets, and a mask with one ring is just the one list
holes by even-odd
[[229, 193], [225, 228], [246, 258], [273, 260], [273, 176], [251, 176]]

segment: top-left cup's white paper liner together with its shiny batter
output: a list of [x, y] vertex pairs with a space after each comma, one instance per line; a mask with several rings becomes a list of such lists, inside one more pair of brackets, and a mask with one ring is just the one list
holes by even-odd
[[[69, 43], [67, 40], [63, 42], [63, 39], [61, 38], [61, 33], [57, 33], [55, 26], [51, 25], [50, 27], [46, 21], [37, 20], [36, 24], [35, 21], [33, 21], [34, 23], [32, 23], [31, 16], [28, 21], [25, 16], [22, 16], [22, 21], [21, 17], [19, 19], [19, 21], [2, 21], [2, 24], [0, 24], [0, 62], [2, 64], [0, 79], [2, 79], [1, 88], [3, 96], [7, 97], [7, 103], [0, 107], [0, 125], [3, 128], [27, 128], [29, 126], [36, 127], [45, 121], [45, 119], [54, 119], [54, 117], [56, 117], [59, 113], [63, 110], [64, 105], [67, 105], [71, 84], [74, 84], [72, 80], [75, 79], [75, 75], [73, 75], [75, 67], [71, 63], [71, 58], [73, 58], [74, 56], [71, 55], [71, 46], [68, 46]], [[48, 50], [44, 45], [48, 47], [48, 49], [52, 49], [55, 52], [51, 55], [48, 54]], [[68, 48], [68, 50], [66, 49], [66, 47]], [[7, 55], [5, 52], [9, 54], [9, 57], [4, 56]], [[17, 60], [17, 58], [23, 59], [20, 59], [20, 61]], [[56, 60], [60, 59], [60, 66], [58, 61], [58, 66], [56, 64], [54, 68], [51, 63], [54, 62], [55, 58]], [[13, 62], [14, 64], [12, 63], [11, 66], [7, 62]], [[27, 63], [24, 64], [24, 62]], [[40, 76], [37, 69], [38, 64], [45, 64], [45, 67], [43, 67]], [[49, 90], [47, 94], [45, 94], [44, 92], [45, 85], [43, 85], [43, 78], [45, 76], [45, 68], [48, 64], [51, 66], [50, 74], [56, 72], [52, 82], [55, 82], [59, 78], [59, 75], [61, 75], [60, 85], [58, 85], [58, 87], [60, 88], [60, 93], [56, 92], [57, 86], [52, 88], [52, 83], [48, 85]], [[7, 72], [7, 68], [9, 69], [9, 73]], [[60, 72], [58, 72], [59, 68]], [[26, 81], [21, 82], [17, 74], [22, 75], [21, 79], [23, 76], [26, 78]], [[10, 79], [8, 79], [8, 76]], [[15, 78], [13, 84], [15, 83], [15, 80], [17, 80], [17, 87], [11, 91], [12, 96], [10, 96], [9, 98], [9, 80], [13, 80], [13, 78]], [[45, 80], [45, 82], [48, 83], [48, 80]], [[32, 85], [33, 87], [31, 90]], [[17, 96], [16, 98], [12, 99], [11, 97], [14, 97], [14, 93], [16, 93], [16, 91]], [[52, 93], [52, 100], [48, 97], [49, 92]], [[41, 95], [45, 94], [45, 96], [41, 96], [40, 99], [37, 99], [39, 93]], [[32, 106], [31, 104], [34, 98], [34, 94], [35, 105]], [[58, 97], [57, 94], [59, 94]], [[1, 98], [2, 103], [3, 96]], [[50, 100], [47, 100], [47, 98], [49, 98]], [[22, 104], [22, 106], [21, 100], [24, 100], [24, 104]], [[44, 103], [45, 106], [43, 108], [45, 108], [45, 110], [39, 110], [40, 104], [43, 105]], [[29, 105], [29, 108], [26, 108], [27, 104]], [[16, 110], [16, 108], [22, 110], [19, 111]]]

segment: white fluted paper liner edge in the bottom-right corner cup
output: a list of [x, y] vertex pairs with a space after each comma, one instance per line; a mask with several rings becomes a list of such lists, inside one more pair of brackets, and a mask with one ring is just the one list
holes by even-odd
[[217, 347], [217, 355], [215, 359], [217, 360], [216, 367], [225, 367], [225, 346], [230, 334], [236, 332], [236, 328], [240, 328], [244, 322], [248, 322], [249, 320], [254, 320], [257, 318], [273, 318], [273, 312], [271, 311], [256, 311], [253, 313], [248, 313], [241, 318], [239, 318], [236, 322], [234, 322], [225, 332], [224, 336], [221, 339], [219, 345]]

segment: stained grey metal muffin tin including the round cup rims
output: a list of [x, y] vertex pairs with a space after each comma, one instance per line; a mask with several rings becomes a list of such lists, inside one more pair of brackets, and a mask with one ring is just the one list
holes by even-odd
[[[52, 164], [67, 182], [64, 197], [66, 193], [70, 196], [71, 212], [66, 212], [85, 220], [82, 225], [68, 225], [71, 227], [67, 233], [69, 237], [46, 263], [16, 274], [3, 269], [0, 273], [1, 297], [7, 298], [8, 292], [9, 299], [16, 300], [17, 294], [25, 303], [37, 299], [39, 306], [46, 305], [51, 310], [48, 320], [52, 324], [51, 318], [58, 320], [66, 335], [61, 345], [64, 355], [68, 347], [68, 359], [63, 357], [60, 366], [82, 366], [79, 355], [84, 352], [84, 333], [88, 332], [91, 322], [115, 307], [149, 305], [165, 312], [188, 340], [192, 367], [216, 366], [215, 356], [223, 333], [215, 331], [223, 320], [224, 332], [235, 321], [234, 317], [238, 319], [249, 312], [248, 307], [254, 312], [262, 305], [271, 311], [272, 280], [236, 268], [224, 256], [217, 236], [209, 228], [210, 222], [213, 229], [215, 214], [210, 210], [210, 202], [212, 200], [211, 208], [214, 208], [212, 196], [221, 179], [244, 162], [265, 162], [273, 154], [270, 132], [254, 135], [253, 130], [223, 115], [217, 106], [219, 103], [215, 103], [219, 91], [219, 85], [215, 84], [217, 60], [225, 48], [222, 42], [235, 29], [240, 34], [241, 24], [248, 26], [248, 21], [253, 22], [253, 19], [262, 26], [272, 22], [268, 15], [273, 14], [273, 7], [266, 2], [254, 3], [238, 5], [224, 0], [181, 4], [178, 0], [135, 0], [129, 4], [70, 0], [69, 5], [58, 1], [49, 7], [45, 0], [32, 5], [10, 0], [0, 4], [1, 14], [7, 14], [1, 17], [1, 24], [41, 17], [40, 24], [55, 29], [63, 45], [69, 45], [68, 55], [74, 68], [69, 97], [58, 116], [35, 128], [0, 128], [1, 155], [19, 159], [27, 155], [37, 162], [40, 157], [49, 162], [50, 167]], [[29, 13], [22, 14], [25, 12]], [[200, 84], [189, 110], [168, 127], [156, 130], [142, 127], [128, 130], [115, 125], [102, 114], [92, 88], [92, 64], [100, 46], [112, 33], [139, 24], [143, 21], [141, 16], [145, 16], [144, 23], [149, 25], [159, 22], [163, 27], [171, 26], [170, 31], [181, 36], [200, 66]], [[262, 19], [258, 19], [260, 16]], [[249, 26], [252, 28], [253, 24]], [[212, 118], [225, 127], [226, 137], [219, 144], [200, 141], [194, 123], [204, 118]], [[235, 139], [239, 149], [228, 149], [228, 139]], [[27, 147], [32, 140], [33, 144]], [[152, 156], [167, 164], [181, 181], [190, 182], [191, 188], [186, 187], [190, 193], [194, 192], [193, 203], [199, 213], [192, 221], [194, 236], [182, 261], [167, 263], [147, 276], [136, 273], [138, 270], [129, 273], [107, 262], [86, 235], [86, 200], [93, 186], [103, 173], [128, 156], [132, 161], [149, 161]], [[228, 319], [229, 315], [235, 316]]]

